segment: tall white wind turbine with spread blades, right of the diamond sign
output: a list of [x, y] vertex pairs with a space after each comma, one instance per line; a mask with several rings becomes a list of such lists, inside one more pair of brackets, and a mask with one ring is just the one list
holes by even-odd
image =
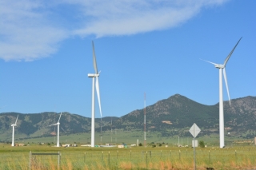
[[[241, 39], [242, 38], [239, 39], [238, 43], [240, 42]], [[225, 141], [224, 141], [224, 111], [223, 111], [222, 71], [223, 71], [224, 80], [225, 80], [225, 84], [226, 84], [227, 95], [228, 95], [229, 101], [230, 101], [230, 93], [229, 93], [229, 88], [228, 88], [227, 81], [226, 81], [225, 67], [226, 67], [227, 61], [229, 61], [230, 56], [234, 52], [234, 49], [237, 47], [238, 43], [234, 46], [234, 48], [232, 49], [230, 54], [226, 57], [226, 60], [224, 61], [223, 65], [222, 64], [216, 64], [216, 63], [210, 62], [210, 61], [206, 61], [206, 62], [210, 62], [217, 69], [219, 69], [218, 74], [219, 74], [219, 147], [220, 148], [224, 148], [225, 147]], [[231, 103], [230, 103], [230, 105], [231, 105]]]

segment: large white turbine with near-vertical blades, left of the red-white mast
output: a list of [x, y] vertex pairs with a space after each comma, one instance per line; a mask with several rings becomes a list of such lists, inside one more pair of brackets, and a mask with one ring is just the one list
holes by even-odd
[[[95, 87], [96, 87], [96, 93], [97, 93], [97, 97], [98, 97], [98, 105], [99, 105], [99, 112], [101, 113], [101, 117], [102, 117], [102, 108], [101, 108], [101, 99], [100, 99], [100, 95], [99, 95], [99, 85], [98, 85], [98, 77], [99, 77], [99, 73], [98, 73], [98, 69], [97, 69], [97, 63], [96, 63], [96, 56], [95, 56], [95, 52], [94, 52], [94, 42], [92, 42], [93, 45], [93, 60], [94, 60], [94, 71], [95, 73], [88, 73], [88, 77], [92, 77], [93, 78], [93, 87], [92, 87], [92, 105], [91, 105], [91, 142], [90, 142], [90, 146], [94, 147], [95, 146], [95, 126], [94, 126], [94, 122], [95, 122]], [[95, 77], [96, 77], [96, 85], [95, 85]]]

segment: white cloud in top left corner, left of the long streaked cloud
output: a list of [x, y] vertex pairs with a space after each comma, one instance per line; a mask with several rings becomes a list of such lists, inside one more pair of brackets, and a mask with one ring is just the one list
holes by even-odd
[[68, 37], [66, 30], [54, 26], [42, 2], [0, 2], [0, 57], [5, 61], [33, 61], [58, 49]]

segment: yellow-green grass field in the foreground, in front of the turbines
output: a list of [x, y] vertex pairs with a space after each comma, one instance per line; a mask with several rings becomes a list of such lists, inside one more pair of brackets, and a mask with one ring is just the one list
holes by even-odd
[[[56, 148], [47, 145], [10, 147], [0, 145], [0, 169], [58, 169], [58, 156], [31, 156], [33, 153], [61, 153], [61, 170], [73, 169], [194, 169], [193, 148]], [[196, 148], [197, 169], [256, 168], [256, 147]]]

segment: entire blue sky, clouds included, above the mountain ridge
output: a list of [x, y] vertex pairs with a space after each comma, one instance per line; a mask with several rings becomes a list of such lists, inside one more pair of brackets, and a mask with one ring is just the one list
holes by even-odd
[[241, 37], [226, 65], [230, 98], [256, 96], [253, 0], [0, 3], [1, 113], [90, 117], [91, 41], [103, 117], [142, 109], [144, 92], [146, 105], [176, 93], [217, 104], [218, 69], [199, 58], [222, 64]]

